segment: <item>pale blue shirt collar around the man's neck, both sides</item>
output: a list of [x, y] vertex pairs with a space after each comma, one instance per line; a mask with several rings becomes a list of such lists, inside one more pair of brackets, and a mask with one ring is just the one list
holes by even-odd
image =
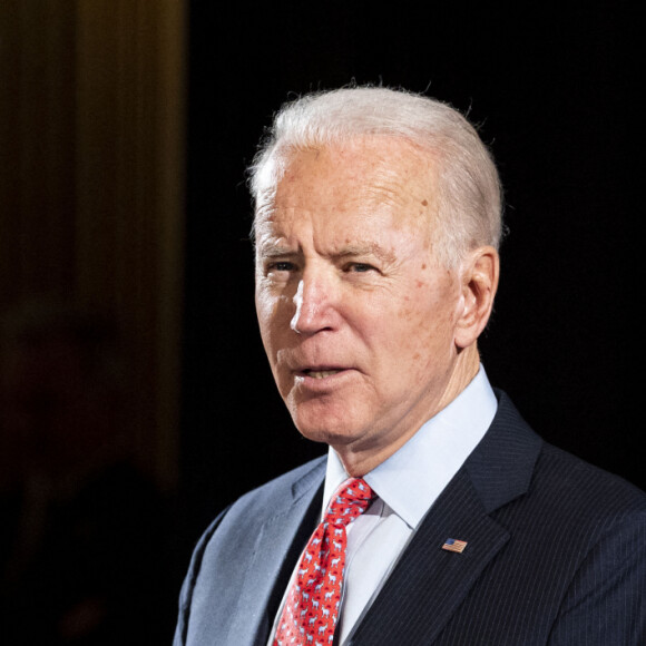
[[[469, 385], [397, 453], [366, 473], [365, 481], [414, 529], [480, 442], [497, 408], [496, 395], [480, 365]], [[323, 510], [348, 478], [336, 451], [330, 447]]]

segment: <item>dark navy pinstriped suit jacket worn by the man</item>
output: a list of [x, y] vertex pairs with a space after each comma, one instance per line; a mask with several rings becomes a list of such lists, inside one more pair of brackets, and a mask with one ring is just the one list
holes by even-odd
[[[321, 510], [324, 458], [252, 491], [199, 541], [175, 646], [265, 646]], [[462, 554], [441, 549], [468, 541]], [[551, 447], [499, 393], [353, 646], [646, 644], [646, 495]]]

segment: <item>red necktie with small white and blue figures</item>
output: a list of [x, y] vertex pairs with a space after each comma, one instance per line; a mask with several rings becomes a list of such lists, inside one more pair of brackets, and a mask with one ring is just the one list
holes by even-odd
[[298, 564], [274, 646], [332, 644], [345, 566], [345, 527], [368, 509], [372, 497], [368, 483], [359, 478], [343, 482], [332, 497]]

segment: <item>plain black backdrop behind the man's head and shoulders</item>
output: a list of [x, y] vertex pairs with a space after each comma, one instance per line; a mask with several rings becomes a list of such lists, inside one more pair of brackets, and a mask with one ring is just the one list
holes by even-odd
[[280, 104], [353, 79], [427, 91], [481, 124], [510, 229], [481, 340], [489, 376], [545, 439], [646, 487], [637, 3], [448, 4], [190, 4], [189, 541], [236, 496], [323, 452], [293, 429], [257, 334], [244, 170]]

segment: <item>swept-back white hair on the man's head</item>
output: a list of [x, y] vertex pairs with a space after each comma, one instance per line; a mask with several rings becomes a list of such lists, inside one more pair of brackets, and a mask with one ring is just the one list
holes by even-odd
[[272, 199], [290, 153], [366, 135], [401, 138], [431, 157], [438, 177], [434, 224], [441, 262], [456, 266], [471, 248], [498, 248], [502, 190], [493, 159], [474, 127], [437, 99], [383, 87], [313, 92], [285, 104], [249, 167], [256, 213]]

